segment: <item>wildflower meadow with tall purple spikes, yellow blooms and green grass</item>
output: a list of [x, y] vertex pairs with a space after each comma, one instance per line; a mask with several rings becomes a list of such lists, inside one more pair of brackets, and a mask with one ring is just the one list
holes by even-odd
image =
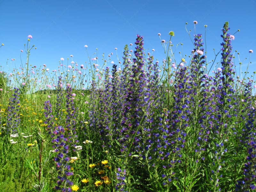
[[70, 55], [51, 73], [29, 64], [29, 35], [26, 62], [0, 68], [0, 191], [254, 191], [255, 85], [221, 32], [217, 64], [201, 34], [175, 58], [170, 31], [163, 62], [137, 35], [119, 63]]

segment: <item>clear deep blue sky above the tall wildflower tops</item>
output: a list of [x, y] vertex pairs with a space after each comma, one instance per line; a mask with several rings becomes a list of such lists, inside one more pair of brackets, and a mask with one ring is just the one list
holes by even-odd
[[[37, 47], [31, 50], [30, 64], [45, 64], [50, 70], [58, 69], [60, 58], [68, 65], [70, 55], [79, 66], [88, 62], [85, 44], [92, 58], [98, 48], [99, 64], [102, 53], [107, 57], [111, 52], [117, 63], [115, 48], [122, 57], [124, 45], [134, 44], [137, 34], [144, 36], [146, 52], [155, 49], [153, 55], [159, 61], [165, 56], [158, 33], [168, 41], [169, 31], [174, 31], [172, 43], [183, 43], [183, 54], [190, 55], [193, 44], [185, 23], [193, 35], [196, 20], [196, 33], [206, 39], [208, 61], [214, 59], [213, 48], [220, 50], [221, 28], [228, 21], [231, 34], [240, 29], [232, 45], [234, 52], [240, 52], [242, 70], [246, 70], [251, 49], [254, 53], [249, 72], [256, 71], [256, 0], [0, 0], [0, 10], [0, 44], [4, 44], [0, 48], [0, 65], [4, 70], [12, 69], [14, 62], [20, 66], [20, 50], [24, 50], [28, 35], [33, 36], [31, 44]], [[208, 26], [206, 37], [204, 25]], [[134, 49], [134, 45], [130, 48]], [[179, 54], [180, 50], [181, 47], [175, 52], [178, 61], [185, 57]], [[25, 63], [25, 50], [21, 55]], [[239, 66], [237, 56], [236, 65]]]

